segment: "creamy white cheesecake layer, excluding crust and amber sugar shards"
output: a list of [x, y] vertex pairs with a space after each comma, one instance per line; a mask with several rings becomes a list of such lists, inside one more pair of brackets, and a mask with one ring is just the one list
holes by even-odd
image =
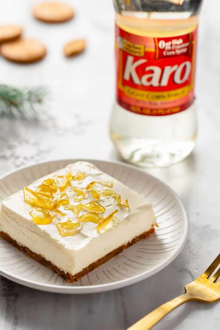
[[[74, 236], [62, 237], [56, 227], [56, 223], [61, 220], [60, 216], [55, 216], [53, 222], [48, 225], [37, 225], [32, 221], [29, 212], [33, 207], [24, 202], [23, 191], [10, 196], [2, 202], [0, 213], [0, 231], [7, 233], [20, 245], [29, 248], [31, 251], [44, 256], [55, 266], [71, 274], [80, 272], [110, 251], [126, 244], [134, 237], [148, 231], [156, 224], [156, 218], [150, 204], [146, 204], [145, 199], [131, 190], [121, 182], [100, 171], [94, 165], [87, 162], [77, 162], [68, 165], [73, 173], [77, 171], [86, 173], [82, 181], [73, 181], [73, 185], [85, 188], [93, 181], [112, 181], [113, 188], [121, 195], [121, 199], [128, 199], [130, 208], [121, 208], [112, 197], [102, 197], [98, 202], [106, 208], [104, 217], [115, 209], [118, 213], [112, 223], [105, 227], [105, 231], [99, 233], [96, 230], [97, 224], [85, 222], [82, 229]], [[44, 178], [32, 183], [29, 188], [35, 190], [47, 178], [54, 175], [62, 175], [65, 169], [56, 171]], [[70, 204], [74, 203], [76, 195], [68, 193]], [[88, 193], [81, 201], [86, 204], [92, 200]], [[73, 212], [59, 208], [66, 213], [62, 220], [74, 217]], [[86, 213], [81, 211], [79, 215]]]

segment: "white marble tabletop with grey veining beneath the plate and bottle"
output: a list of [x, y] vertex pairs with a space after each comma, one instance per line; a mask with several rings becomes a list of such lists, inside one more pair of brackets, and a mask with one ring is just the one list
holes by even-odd
[[[0, 81], [16, 86], [49, 85], [51, 100], [47, 111], [52, 118], [37, 125], [0, 121], [0, 174], [51, 158], [118, 159], [108, 137], [114, 97], [111, 0], [70, 1], [76, 18], [60, 25], [35, 21], [30, 14], [33, 3], [4, 1], [0, 22], [21, 23], [26, 36], [45, 42], [47, 57], [32, 65], [16, 65], [0, 58]], [[169, 184], [186, 206], [190, 229], [183, 251], [152, 278], [101, 294], [52, 294], [1, 278], [0, 329], [125, 329], [182, 294], [184, 285], [202, 273], [219, 253], [219, 12], [218, 0], [204, 0], [199, 29], [196, 149], [180, 164], [148, 170]], [[64, 58], [64, 43], [80, 36], [88, 40], [84, 54]], [[217, 303], [188, 303], [169, 314], [155, 329], [218, 329], [219, 307]]]

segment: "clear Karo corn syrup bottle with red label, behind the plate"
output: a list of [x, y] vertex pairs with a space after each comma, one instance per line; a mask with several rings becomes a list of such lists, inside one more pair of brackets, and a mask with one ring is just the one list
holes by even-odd
[[114, 0], [116, 101], [110, 137], [127, 162], [168, 166], [195, 146], [201, 2]]

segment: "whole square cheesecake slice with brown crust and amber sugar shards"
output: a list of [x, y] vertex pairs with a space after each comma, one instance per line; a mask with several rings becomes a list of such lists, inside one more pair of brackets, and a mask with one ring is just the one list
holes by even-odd
[[1, 236], [68, 282], [154, 232], [152, 207], [137, 192], [79, 161], [2, 202]]

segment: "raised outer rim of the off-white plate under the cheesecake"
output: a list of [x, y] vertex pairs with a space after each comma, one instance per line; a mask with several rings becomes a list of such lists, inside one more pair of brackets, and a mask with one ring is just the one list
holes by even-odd
[[[31, 287], [33, 289], [37, 289], [37, 290], [41, 290], [41, 291], [46, 291], [46, 292], [53, 292], [53, 293], [63, 293], [63, 294], [87, 294], [87, 293], [98, 293], [98, 292], [105, 292], [105, 291], [111, 291], [111, 290], [116, 290], [118, 288], [122, 288], [122, 287], [126, 287], [129, 285], [132, 285], [134, 283], [138, 283], [140, 281], [143, 281], [144, 279], [147, 279], [148, 277], [153, 276], [154, 274], [160, 272], [162, 269], [164, 269], [165, 267], [167, 267], [178, 255], [179, 253], [182, 251], [182, 249], [184, 248], [186, 241], [187, 241], [187, 236], [188, 236], [188, 229], [189, 229], [189, 219], [188, 219], [188, 215], [186, 212], [186, 209], [180, 199], [180, 197], [175, 193], [175, 191], [169, 187], [165, 182], [161, 181], [160, 179], [157, 179], [155, 176], [153, 176], [152, 174], [149, 174], [147, 172], [145, 172], [142, 168], [138, 168], [134, 165], [131, 164], [127, 164], [121, 161], [117, 161], [117, 160], [109, 160], [109, 159], [101, 159], [101, 158], [84, 158], [84, 157], [80, 157], [80, 158], [58, 158], [58, 159], [48, 159], [46, 161], [42, 161], [42, 162], [37, 162], [34, 164], [29, 164], [29, 165], [24, 165], [24, 166], [20, 166], [14, 170], [8, 171], [5, 174], [0, 176], [0, 181], [3, 180], [4, 178], [19, 172], [25, 168], [31, 168], [34, 166], [39, 166], [39, 165], [43, 165], [43, 164], [47, 164], [47, 163], [51, 163], [51, 162], [60, 162], [60, 161], [72, 161], [72, 162], [76, 162], [76, 161], [88, 161], [88, 162], [94, 162], [94, 161], [100, 161], [100, 162], [107, 162], [110, 164], [118, 164], [118, 165], [122, 165], [125, 166], [127, 168], [132, 168], [138, 172], [141, 172], [145, 175], [147, 175], [148, 177], [151, 177], [153, 180], [157, 181], [160, 183], [160, 185], [162, 185], [163, 187], [165, 187], [170, 193], [173, 194], [173, 196], [176, 198], [177, 202], [180, 205], [181, 211], [184, 215], [183, 217], [183, 221], [185, 224], [185, 228], [184, 228], [184, 233], [183, 236], [181, 238], [181, 242], [179, 244], [179, 247], [174, 250], [173, 254], [170, 255], [170, 257], [168, 259], [166, 259], [164, 262], [161, 262], [158, 266], [152, 268], [150, 271], [145, 271], [141, 274], [135, 275], [131, 278], [128, 279], [124, 279], [124, 280], [120, 280], [120, 281], [115, 281], [112, 283], [105, 283], [105, 284], [96, 284], [96, 285], [83, 285], [83, 286], [63, 286], [63, 285], [51, 285], [51, 284], [46, 284], [46, 283], [38, 283], [35, 281], [31, 281], [31, 280], [24, 280], [21, 279], [20, 277], [16, 276], [16, 275], [11, 275], [10, 272], [7, 272], [5, 270], [3, 270], [0, 267], [0, 275], [11, 280], [14, 281], [18, 284], [24, 285], [26, 287]], [[147, 275], [147, 276], [146, 276]]]

